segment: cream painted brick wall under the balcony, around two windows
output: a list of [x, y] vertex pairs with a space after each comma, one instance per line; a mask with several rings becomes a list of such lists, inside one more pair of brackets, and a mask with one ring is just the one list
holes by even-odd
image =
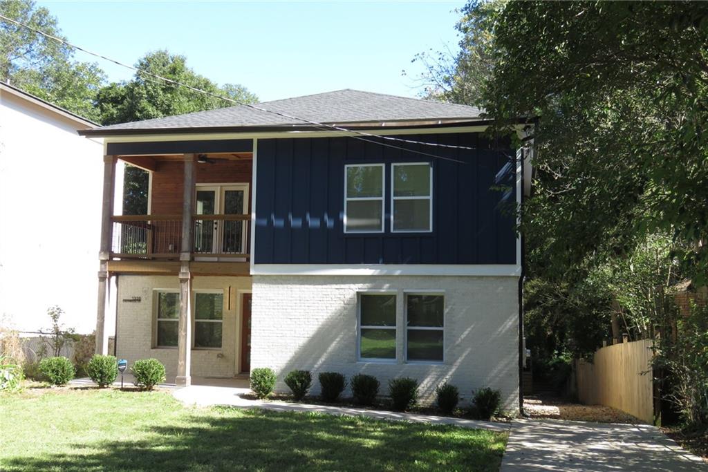
[[[231, 287], [231, 308], [228, 306], [228, 291]], [[177, 349], [154, 348], [153, 295], [155, 289], [178, 289], [176, 276], [122, 275], [118, 280], [118, 328], [116, 350], [119, 358], [129, 364], [137, 359], [158, 359], [165, 364], [167, 381], [173, 382], [177, 374]], [[195, 277], [192, 289], [224, 290], [224, 325], [222, 327], [222, 349], [192, 350], [192, 376], [230, 377], [236, 372], [240, 362], [238, 340], [241, 335], [241, 299], [239, 293], [251, 289], [249, 277]], [[140, 297], [139, 303], [124, 302], [123, 299]], [[222, 357], [218, 357], [221, 354]]]

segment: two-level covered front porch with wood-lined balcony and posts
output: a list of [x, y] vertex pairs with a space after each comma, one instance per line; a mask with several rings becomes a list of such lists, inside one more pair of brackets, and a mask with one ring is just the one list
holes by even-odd
[[[115, 354], [130, 354], [131, 362], [164, 359], [168, 381], [175, 385], [193, 383], [193, 357], [198, 364], [217, 365], [212, 370], [219, 376], [244, 372], [249, 339], [244, 337], [244, 309], [236, 304], [244, 302], [246, 293], [250, 304], [253, 149], [253, 139], [106, 144], [96, 352], [108, 353], [105, 321], [110, 307], [116, 316]], [[144, 214], [122, 214], [121, 205], [115, 205], [116, 168], [122, 163], [149, 173]], [[158, 314], [160, 289], [171, 292], [175, 301], [171, 320], [158, 321], [164, 316]], [[218, 294], [221, 305], [207, 315], [219, 317], [211, 320], [218, 321], [218, 326], [209, 326], [211, 341], [195, 340], [195, 323], [205, 321], [195, 320], [200, 318], [195, 304], [205, 290]], [[140, 323], [147, 325], [136, 335]], [[172, 335], [174, 344], [165, 341]], [[213, 345], [200, 347], [200, 342]], [[169, 367], [173, 362], [174, 368]], [[198, 370], [200, 382], [217, 380], [204, 376], [212, 370]]]

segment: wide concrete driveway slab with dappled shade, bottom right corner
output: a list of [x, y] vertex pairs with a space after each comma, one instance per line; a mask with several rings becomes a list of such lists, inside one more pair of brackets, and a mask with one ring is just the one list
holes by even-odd
[[564, 420], [512, 422], [501, 472], [708, 471], [658, 428]]

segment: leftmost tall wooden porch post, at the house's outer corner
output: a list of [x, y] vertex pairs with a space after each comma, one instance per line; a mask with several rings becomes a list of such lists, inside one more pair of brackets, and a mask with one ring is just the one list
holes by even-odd
[[115, 156], [103, 156], [103, 207], [101, 209], [101, 247], [98, 252], [98, 309], [96, 310], [96, 354], [108, 354], [108, 337], [105, 335], [105, 305], [108, 294], [108, 259], [113, 239], [113, 185]]

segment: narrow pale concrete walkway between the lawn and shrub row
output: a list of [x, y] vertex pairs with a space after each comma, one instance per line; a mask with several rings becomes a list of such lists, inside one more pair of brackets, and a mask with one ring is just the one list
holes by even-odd
[[463, 418], [448, 418], [445, 416], [416, 415], [414, 413], [398, 413], [394, 411], [367, 410], [366, 408], [312, 405], [284, 401], [260, 401], [242, 397], [242, 395], [249, 393], [251, 393], [250, 388], [201, 385], [178, 388], [172, 392], [175, 398], [186, 405], [230, 405], [240, 408], [261, 408], [263, 410], [279, 412], [293, 411], [298, 413], [324, 413], [326, 415], [365, 416], [376, 420], [425, 422], [430, 425], [453, 425], [500, 432], [506, 432], [510, 427], [510, 423], [465, 420]]

